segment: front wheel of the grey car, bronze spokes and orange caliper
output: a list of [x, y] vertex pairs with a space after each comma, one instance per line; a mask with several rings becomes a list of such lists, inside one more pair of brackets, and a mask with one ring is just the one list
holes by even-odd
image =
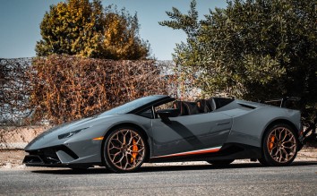
[[121, 127], [107, 136], [103, 151], [108, 169], [133, 172], [144, 162], [147, 145], [141, 132], [131, 127]]

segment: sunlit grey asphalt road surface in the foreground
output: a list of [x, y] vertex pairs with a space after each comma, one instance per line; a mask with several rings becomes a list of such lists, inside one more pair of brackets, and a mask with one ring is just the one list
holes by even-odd
[[0, 195], [317, 195], [317, 162], [142, 166], [134, 174], [102, 168], [0, 170]]

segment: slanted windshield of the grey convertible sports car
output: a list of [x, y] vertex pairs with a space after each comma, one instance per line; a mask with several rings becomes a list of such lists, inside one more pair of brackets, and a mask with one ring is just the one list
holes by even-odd
[[120, 107], [115, 107], [113, 109], [110, 109], [104, 113], [101, 113], [99, 116], [105, 116], [105, 115], [122, 115], [127, 114], [134, 109], [144, 106], [146, 104], [149, 104], [152, 101], [158, 100], [159, 98], [164, 98], [166, 96], [149, 96], [145, 98], [138, 98], [131, 102], [128, 102]]

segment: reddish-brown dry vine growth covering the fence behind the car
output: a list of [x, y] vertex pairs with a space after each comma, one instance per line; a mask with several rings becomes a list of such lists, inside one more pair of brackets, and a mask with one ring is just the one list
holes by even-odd
[[171, 77], [155, 61], [112, 61], [51, 55], [30, 72], [33, 120], [54, 124], [93, 115], [127, 101], [168, 94]]

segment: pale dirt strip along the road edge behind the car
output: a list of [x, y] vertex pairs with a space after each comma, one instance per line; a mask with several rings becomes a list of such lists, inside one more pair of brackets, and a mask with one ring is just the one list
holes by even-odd
[[[26, 166], [22, 165], [22, 161], [26, 153], [21, 149], [0, 149], [0, 169], [26, 169]], [[297, 154], [295, 161], [317, 161], [317, 149], [316, 148], [304, 148]], [[245, 163], [249, 160], [236, 160], [235, 163]], [[152, 165], [195, 165], [205, 164], [203, 161], [192, 163], [166, 163], [166, 164], [152, 164]], [[149, 165], [149, 164], [147, 164]]]

